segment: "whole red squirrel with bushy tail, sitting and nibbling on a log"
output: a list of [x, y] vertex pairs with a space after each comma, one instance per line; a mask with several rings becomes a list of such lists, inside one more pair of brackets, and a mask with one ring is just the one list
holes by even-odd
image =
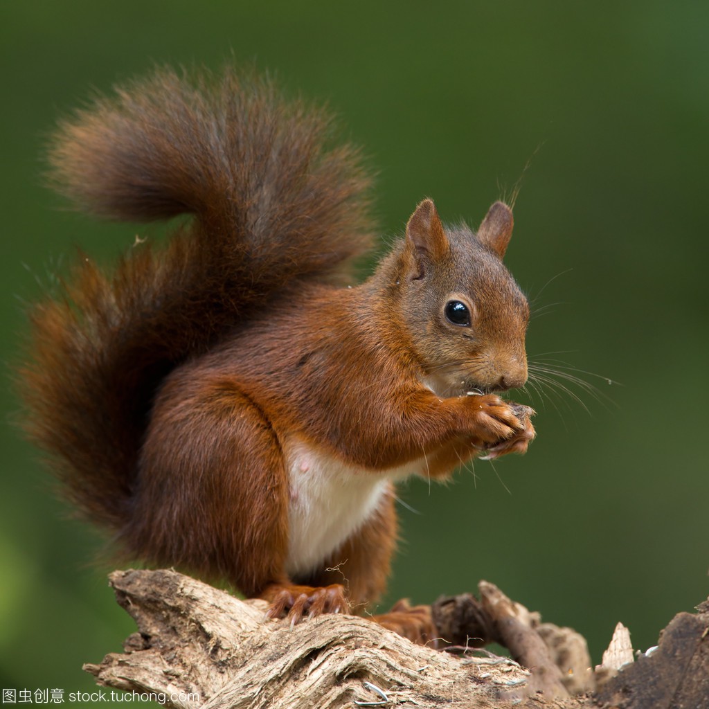
[[[235, 69], [160, 69], [60, 123], [52, 179], [79, 208], [188, 218], [111, 274], [82, 256], [33, 309], [22, 372], [30, 434], [127, 558], [225, 579], [291, 622], [384, 591], [396, 481], [535, 435], [496, 393], [527, 379], [510, 208], [474, 232], [425, 199], [350, 286], [370, 179], [331, 125]], [[421, 618], [375, 620], [420, 640]]]

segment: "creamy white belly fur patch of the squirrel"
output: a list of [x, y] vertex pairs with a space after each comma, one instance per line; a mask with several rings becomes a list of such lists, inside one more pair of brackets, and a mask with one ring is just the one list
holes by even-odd
[[289, 468], [289, 548], [286, 571], [308, 574], [366, 523], [389, 481], [425, 470], [425, 461], [386, 471], [348, 465], [299, 441], [285, 447]]

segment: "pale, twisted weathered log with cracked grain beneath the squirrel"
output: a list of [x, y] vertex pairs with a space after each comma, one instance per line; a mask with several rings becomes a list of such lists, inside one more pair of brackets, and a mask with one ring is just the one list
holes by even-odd
[[[111, 574], [138, 624], [125, 654], [85, 669], [99, 683], [162, 693], [179, 708], [496, 707], [529, 673], [505, 658], [460, 659], [420, 647], [365, 618], [322, 615], [295, 627], [174, 571]], [[383, 705], [383, 704], [382, 704]]]

